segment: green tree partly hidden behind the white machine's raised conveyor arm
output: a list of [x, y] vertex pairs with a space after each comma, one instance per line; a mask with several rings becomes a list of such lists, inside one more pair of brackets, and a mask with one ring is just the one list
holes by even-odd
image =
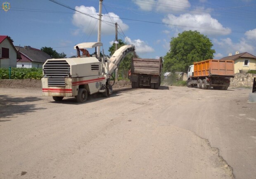
[[[119, 44], [117, 45], [117, 49], [119, 49], [123, 45], [127, 45], [121, 39], [119, 39], [118, 42], [119, 42]], [[115, 50], [116, 50], [116, 44], [113, 43], [113, 45], [111, 47], [109, 47], [109, 55], [112, 56], [115, 53]], [[119, 65], [119, 67], [118, 67], [119, 70], [122, 70], [122, 69], [127, 69], [128, 70], [128, 69], [130, 69], [130, 64], [131, 64], [131, 60], [133, 59], [133, 57], [139, 58], [135, 52], [127, 54], [126, 57], [124, 57], [121, 64]]]

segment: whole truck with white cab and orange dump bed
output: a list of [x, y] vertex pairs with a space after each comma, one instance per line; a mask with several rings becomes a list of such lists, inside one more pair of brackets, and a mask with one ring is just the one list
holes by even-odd
[[234, 78], [234, 61], [208, 59], [194, 62], [187, 72], [187, 87], [208, 90], [228, 90], [230, 78]]

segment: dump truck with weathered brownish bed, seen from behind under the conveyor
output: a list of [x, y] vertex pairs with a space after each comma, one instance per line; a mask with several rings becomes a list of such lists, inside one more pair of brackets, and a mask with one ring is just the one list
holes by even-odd
[[162, 58], [133, 58], [130, 69], [130, 81], [132, 82], [132, 88], [147, 86], [151, 87], [152, 89], [158, 89], [161, 83], [162, 67]]

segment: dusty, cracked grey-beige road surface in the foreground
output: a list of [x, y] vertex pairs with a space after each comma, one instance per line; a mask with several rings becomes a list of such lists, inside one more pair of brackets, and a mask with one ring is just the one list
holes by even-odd
[[161, 86], [77, 104], [0, 88], [0, 178], [255, 178], [250, 92]]

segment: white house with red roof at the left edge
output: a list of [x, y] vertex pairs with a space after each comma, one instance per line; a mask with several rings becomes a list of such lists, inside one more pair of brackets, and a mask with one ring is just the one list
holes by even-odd
[[16, 67], [17, 59], [20, 58], [11, 38], [7, 35], [0, 35], [0, 68]]

